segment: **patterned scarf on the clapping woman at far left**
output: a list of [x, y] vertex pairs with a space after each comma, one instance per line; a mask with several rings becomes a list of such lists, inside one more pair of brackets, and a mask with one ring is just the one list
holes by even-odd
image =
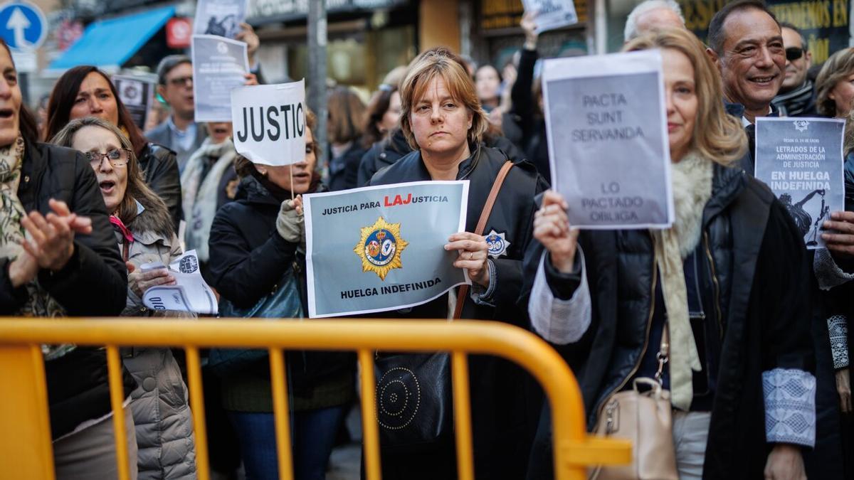
[[[26, 216], [24, 205], [18, 198], [20, 170], [24, 162], [24, 138], [0, 147], [0, 257], [14, 261], [24, 253], [20, 242], [26, 230], [20, 220]], [[26, 284], [26, 302], [15, 313], [25, 317], [62, 317], [65, 309], [38, 284], [34, 278]], [[43, 345], [46, 360], [59, 357], [73, 349], [73, 345]]]

